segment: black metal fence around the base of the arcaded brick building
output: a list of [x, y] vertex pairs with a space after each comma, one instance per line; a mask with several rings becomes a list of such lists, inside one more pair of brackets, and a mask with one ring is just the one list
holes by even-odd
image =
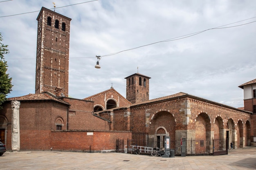
[[[138, 139], [127, 140], [127, 148], [132, 146], [142, 146], [148, 148], [164, 148], [164, 139], [154, 140], [140, 136]], [[186, 139], [186, 142], [182, 142], [181, 139], [170, 141], [170, 149], [175, 150], [176, 155], [181, 154], [181, 146], [186, 146], [186, 154], [188, 155], [212, 155], [213, 153], [227, 154], [226, 139]], [[224, 151], [224, 152], [223, 152]], [[143, 152], [143, 150], [142, 150]], [[215, 155], [220, 155], [215, 154]]]

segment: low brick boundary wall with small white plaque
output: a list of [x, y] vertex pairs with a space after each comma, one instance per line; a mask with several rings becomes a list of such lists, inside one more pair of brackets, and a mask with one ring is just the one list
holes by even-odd
[[[93, 135], [92, 135], [93, 134]], [[128, 132], [118, 131], [52, 131], [53, 150], [97, 152], [116, 149], [116, 139], [128, 139]]]

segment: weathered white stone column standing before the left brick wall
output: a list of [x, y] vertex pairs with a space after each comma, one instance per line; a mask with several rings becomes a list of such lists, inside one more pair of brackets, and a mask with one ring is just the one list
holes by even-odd
[[11, 101], [11, 150], [20, 151], [20, 102]]

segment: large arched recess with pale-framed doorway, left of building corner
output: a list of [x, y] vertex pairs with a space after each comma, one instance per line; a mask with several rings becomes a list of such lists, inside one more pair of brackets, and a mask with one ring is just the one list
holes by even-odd
[[175, 148], [175, 119], [168, 111], [157, 112], [150, 121], [149, 142], [151, 147], [164, 147], [164, 137], [170, 137], [170, 147]]

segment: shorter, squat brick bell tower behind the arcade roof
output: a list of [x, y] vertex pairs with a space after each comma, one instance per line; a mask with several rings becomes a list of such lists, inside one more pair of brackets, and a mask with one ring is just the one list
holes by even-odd
[[139, 73], [126, 77], [126, 99], [132, 104], [149, 100], [149, 78]]

